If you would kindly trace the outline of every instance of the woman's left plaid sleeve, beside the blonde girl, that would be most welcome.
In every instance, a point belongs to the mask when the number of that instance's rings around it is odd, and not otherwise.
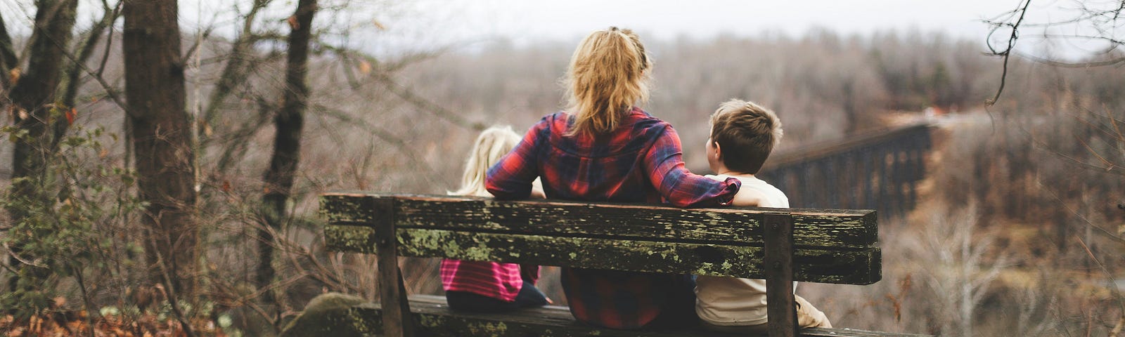
[[[485,189],[498,200],[528,199],[531,197],[531,184],[538,177],[539,162],[536,160],[536,148],[540,142],[540,133],[547,127],[547,120],[540,120],[528,130],[520,144],[515,145],[496,164],[488,168]]]

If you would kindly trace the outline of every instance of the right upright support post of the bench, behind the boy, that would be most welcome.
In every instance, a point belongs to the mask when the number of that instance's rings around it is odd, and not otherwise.
[[[793,217],[765,215],[766,315],[770,337],[796,336],[793,295]]]

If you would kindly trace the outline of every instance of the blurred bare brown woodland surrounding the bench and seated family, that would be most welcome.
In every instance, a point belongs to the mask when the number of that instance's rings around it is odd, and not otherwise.
[[[0,330],[65,317],[137,336],[263,336],[325,291],[374,299],[372,257],[324,251],[317,193],[454,190],[477,131],[522,130],[560,109],[577,43],[372,52],[364,44],[378,38],[353,36],[394,35],[411,9],[252,0],[186,26],[141,19],[176,1],[132,3],[0,4]],[[1120,27],[1110,4],[1084,18]],[[640,31],[656,64],[645,109],[676,127],[698,170],[706,118],[730,98],[777,111],[778,152],[936,122],[919,204],[880,219],[883,281],[799,293],[837,327],[1116,336],[1123,36],[1101,30],[1092,37],[1109,47],[1079,58],[1020,55],[1004,48],[1012,28],[1029,27],[1014,9],[982,13],[1001,15],[1005,38],[991,51],[984,36],[921,30]],[[158,85],[168,83],[179,84]],[[174,94],[165,108],[151,98]],[[435,261],[406,259],[404,272],[412,292],[441,292]],[[564,299],[552,277],[541,288]]]

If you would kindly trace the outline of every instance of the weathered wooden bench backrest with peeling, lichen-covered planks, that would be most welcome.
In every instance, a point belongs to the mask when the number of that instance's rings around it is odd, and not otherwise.
[[[792,224],[793,281],[881,279],[875,211],[709,208],[336,192],[321,197],[332,251],[765,279],[764,224]],[[788,222],[788,221],[786,221]],[[776,227],[776,226],[775,226]],[[380,229],[381,228],[381,229]],[[386,230],[386,231],[384,231]]]

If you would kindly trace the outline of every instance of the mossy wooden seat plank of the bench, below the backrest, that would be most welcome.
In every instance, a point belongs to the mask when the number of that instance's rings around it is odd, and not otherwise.
[[[663,329],[660,331],[627,331],[596,328],[578,324],[566,307],[548,306],[507,313],[476,313],[450,311],[441,297],[411,297],[415,327],[423,336],[496,336],[496,337],[732,337],[734,334],[712,333],[698,328]],[[376,304],[352,307],[353,325],[364,334],[379,335],[381,310]],[[855,329],[803,329],[798,336],[814,337],[924,337],[924,335],[889,334]]]

